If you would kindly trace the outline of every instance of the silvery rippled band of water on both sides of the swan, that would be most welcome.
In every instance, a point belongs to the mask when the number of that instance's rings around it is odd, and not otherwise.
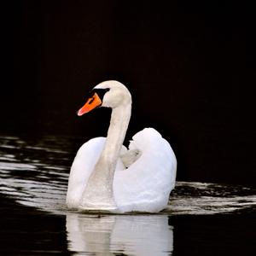
[[[69,167],[75,151],[70,153],[63,148],[71,144],[70,137],[0,137],[0,193],[29,207],[64,214]],[[228,213],[255,205],[256,195],[251,188],[177,182],[163,213]]]

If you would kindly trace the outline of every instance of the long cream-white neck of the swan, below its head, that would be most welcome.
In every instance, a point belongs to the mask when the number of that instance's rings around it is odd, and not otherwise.
[[[117,209],[113,198],[113,176],[130,118],[131,102],[113,108],[108,137],[82,196],[84,210]]]

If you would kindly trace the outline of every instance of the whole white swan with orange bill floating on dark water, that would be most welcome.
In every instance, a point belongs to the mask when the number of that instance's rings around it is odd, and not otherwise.
[[[67,207],[88,212],[160,212],[176,179],[177,160],[167,141],[153,128],[122,146],[131,117],[131,94],[118,81],[96,85],[78,115],[112,108],[108,136],[79,148],[68,179]]]

